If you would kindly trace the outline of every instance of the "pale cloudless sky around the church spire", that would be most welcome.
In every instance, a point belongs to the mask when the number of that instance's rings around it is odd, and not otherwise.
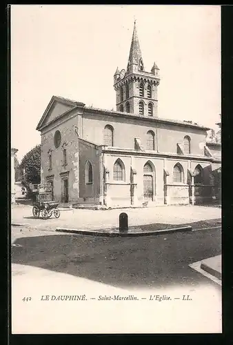
[[[220,6],[12,5],[11,146],[19,161],[53,95],[116,110],[113,75],[127,68],[134,20],[145,70],[160,68],[158,116],[217,129]]]

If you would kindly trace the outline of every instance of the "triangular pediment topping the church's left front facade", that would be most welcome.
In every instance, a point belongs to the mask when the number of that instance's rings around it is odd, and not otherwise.
[[[74,101],[53,96],[37,125],[37,130],[40,130],[43,126],[50,124],[54,119],[61,117],[61,115],[64,115],[76,107],[77,103]]]

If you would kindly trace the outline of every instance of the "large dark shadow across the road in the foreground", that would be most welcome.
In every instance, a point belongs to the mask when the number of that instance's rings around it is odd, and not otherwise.
[[[12,264],[122,288],[187,286],[213,284],[188,265],[219,254],[219,229],[124,238],[63,234],[17,239]]]

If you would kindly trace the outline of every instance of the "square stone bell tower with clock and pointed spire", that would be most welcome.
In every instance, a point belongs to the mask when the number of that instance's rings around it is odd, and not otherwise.
[[[117,111],[145,117],[157,117],[159,81],[159,68],[155,63],[151,72],[145,71],[136,32],[136,21],[134,21],[127,69],[120,71],[117,67],[114,74]]]

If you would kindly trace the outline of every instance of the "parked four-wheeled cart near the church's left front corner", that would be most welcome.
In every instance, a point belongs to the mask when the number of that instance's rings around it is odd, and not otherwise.
[[[51,184],[39,184],[37,188],[34,186],[34,201],[32,207],[32,214],[34,217],[47,219],[52,217],[59,218],[60,210],[57,208],[58,202],[53,200],[52,186]]]

